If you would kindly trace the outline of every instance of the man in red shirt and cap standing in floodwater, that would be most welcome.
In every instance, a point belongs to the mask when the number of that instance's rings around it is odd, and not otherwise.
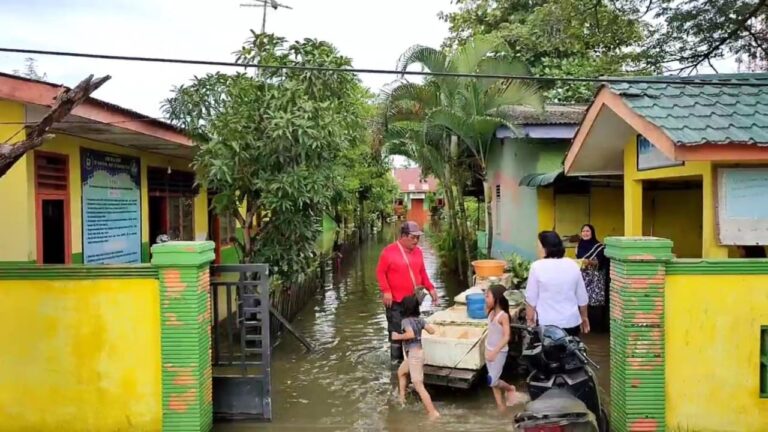
[[[387,314],[387,335],[392,360],[402,360],[400,342],[392,341],[392,332],[402,332],[403,308],[400,302],[415,295],[417,287],[424,287],[437,305],[437,291],[427,276],[424,255],[419,248],[419,239],[424,233],[416,222],[406,222],[400,228],[400,240],[381,251],[376,267],[376,279],[381,289],[381,300]]]

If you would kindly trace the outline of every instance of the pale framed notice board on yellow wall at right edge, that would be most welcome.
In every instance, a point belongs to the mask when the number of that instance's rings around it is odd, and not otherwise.
[[[723,245],[768,245],[768,167],[717,170],[717,231]]]

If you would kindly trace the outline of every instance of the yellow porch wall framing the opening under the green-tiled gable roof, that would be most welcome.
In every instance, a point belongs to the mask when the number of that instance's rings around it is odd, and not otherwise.
[[[693,221],[701,220],[701,233],[695,236],[701,238],[701,251],[699,256],[704,258],[728,258],[728,248],[720,246],[717,241],[716,217],[715,217],[715,171],[711,162],[686,162],[681,167],[659,168],[648,171],[637,170],[637,147],[635,136],[629,137],[624,146],[624,235],[639,236],[643,234],[643,187],[644,180],[661,179],[689,179],[701,180],[701,217],[695,217]],[[678,227],[688,227],[691,221],[687,214],[676,206],[668,210],[674,213],[670,216],[676,220]],[[698,225],[698,224],[696,224]],[[647,226],[647,225],[646,225]],[[692,245],[697,240],[690,229],[680,230],[675,243]],[[683,238],[690,235],[691,238]],[[687,247],[687,246],[686,246]],[[687,249],[686,249],[687,250]]]

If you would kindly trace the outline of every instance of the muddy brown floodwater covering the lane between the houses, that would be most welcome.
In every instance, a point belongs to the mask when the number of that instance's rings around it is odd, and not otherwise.
[[[217,432],[514,430],[513,413],[498,414],[491,390],[482,383],[471,390],[431,387],[442,415],[434,422],[426,419],[415,393],[405,407],[397,404],[375,273],[381,249],[393,238],[387,231],[347,254],[298,316],[294,325],[314,343],[316,352],[305,353],[291,336],[283,335],[272,361],[273,421],[217,424]],[[442,299],[440,307],[450,306],[464,287],[440,274],[428,242],[422,241],[421,247]],[[590,356],[605,365],[598,375],[600,387],[607,390],[608,337],[590,335],[585,342]],[[520,386],[523,377],[516,381]]]

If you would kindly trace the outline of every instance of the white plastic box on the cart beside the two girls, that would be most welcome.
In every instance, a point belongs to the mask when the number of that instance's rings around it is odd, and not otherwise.
[[[435,334],[423,332],[424,363],[430,366],[478,370],[485,365],[485,328],[433,324]]]

